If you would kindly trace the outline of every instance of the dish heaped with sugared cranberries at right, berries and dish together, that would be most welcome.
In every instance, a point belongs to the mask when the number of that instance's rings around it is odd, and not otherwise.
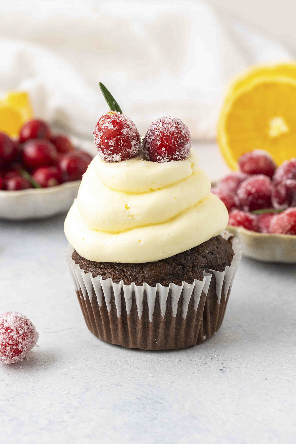
[[[227,230],[244,254],[268,262],[296,262],[296,158],[276,166],[261,150],[243,154],[239,171],[212,188],[227,207]]]

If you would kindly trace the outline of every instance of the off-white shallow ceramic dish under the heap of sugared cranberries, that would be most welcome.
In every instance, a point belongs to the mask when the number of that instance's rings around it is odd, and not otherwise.
[[[228,225],[249,258],[264,262],[296,263],[296,236],[292,234],[265,234]]]

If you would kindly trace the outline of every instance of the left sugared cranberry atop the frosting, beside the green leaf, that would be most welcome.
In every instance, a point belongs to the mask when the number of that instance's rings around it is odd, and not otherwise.
[[[134,122],[117,111],[102,115],[95,126],[94,142],[106,162],[121,162],[138,155],[141,137]]]

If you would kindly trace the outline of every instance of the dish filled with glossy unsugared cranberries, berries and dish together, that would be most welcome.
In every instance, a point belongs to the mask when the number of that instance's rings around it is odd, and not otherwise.
[[[38,219],[69,210],[92,157],[40,119],[25,123],[18,140],[0,132],[0,218]]]

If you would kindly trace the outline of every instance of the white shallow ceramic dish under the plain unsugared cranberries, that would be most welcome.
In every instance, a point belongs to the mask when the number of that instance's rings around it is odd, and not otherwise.
[[[95,156],[94,143],[68,135],[75,147]],[[77,196],[80,180],[64,182],[50,188],[0,190],[0,219],[43,219],[68,211]]]

